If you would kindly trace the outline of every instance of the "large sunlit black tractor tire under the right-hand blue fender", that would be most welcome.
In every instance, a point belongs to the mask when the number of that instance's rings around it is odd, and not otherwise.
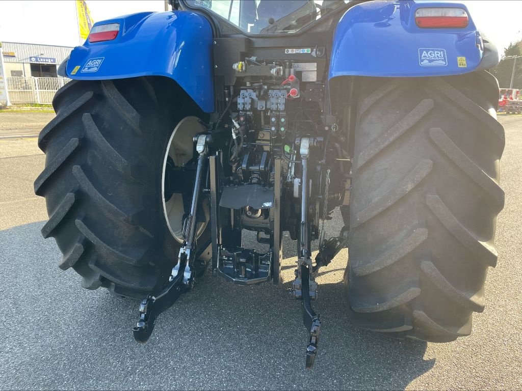
[[[485,71],[361,80],[345,273],[355,325],[432,342],[471,333],[504,206],[498,88]]]

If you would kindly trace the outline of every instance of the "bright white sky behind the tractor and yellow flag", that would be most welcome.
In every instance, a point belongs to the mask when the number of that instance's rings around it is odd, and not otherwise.
[[[522,40],[522,0],[465,0],[471,18],[503,53]],[[140,11],[163,11],[163,0],[87,0],[94,21]],[[0,0],[0,42],[77,46],[74,0]]]

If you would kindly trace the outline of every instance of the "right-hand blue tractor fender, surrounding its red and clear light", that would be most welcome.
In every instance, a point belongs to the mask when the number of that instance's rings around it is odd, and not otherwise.
[[[416,25],[415,11],[424,7],[464,8],[469,25],[462,29],[421,29]],[[464,4],[372,1],[353,6],[339,20],[328,79],[460,75],[498,61],[494,45],[484,48]]]

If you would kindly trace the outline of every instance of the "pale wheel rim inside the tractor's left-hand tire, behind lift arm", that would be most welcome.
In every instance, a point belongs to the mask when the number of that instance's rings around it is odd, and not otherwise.
[[[200,132],[205,131],[203,125],[199,123],[197,117],[185,117],[172,131],[169,143],[167,144],[167,151],[163,157],[163,169],[161,175],[161,199],[163,203],[163,215],[165,222],[169,227],[170,233],[177,242],[183,243],[183,196],[180,193],[174,193],[165,200],[165,180],[167,180],[167,167],[170,160],[176,167],[184,166],[193,157],[194,143],[193,137]],[[169,160],[170,157],[170,160]],[[192,194],[193,189],[187,189],[187,192]],[[205,214],[205,222],[198,223],[196,229],[196,238],[201,236],[207,227],[209,220],[209,205],[208,201],[201,205]]]

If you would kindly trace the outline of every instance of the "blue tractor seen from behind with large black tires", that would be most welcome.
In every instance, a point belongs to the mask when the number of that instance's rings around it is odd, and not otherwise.
[[[466,6],[170,4],[97,22],[59,69],[73,81],[40,133],[34,189],[60,267],[87,289],[141,299],[133,334],[145,342],[207,268],[279,284],[288,231],[307,368],[321,331],[315,278],[345,247],[355,325],[469,335],[497,260],[504,129],[487,71],[499,55]],[[337,207],[344,227],[327,238]]]

